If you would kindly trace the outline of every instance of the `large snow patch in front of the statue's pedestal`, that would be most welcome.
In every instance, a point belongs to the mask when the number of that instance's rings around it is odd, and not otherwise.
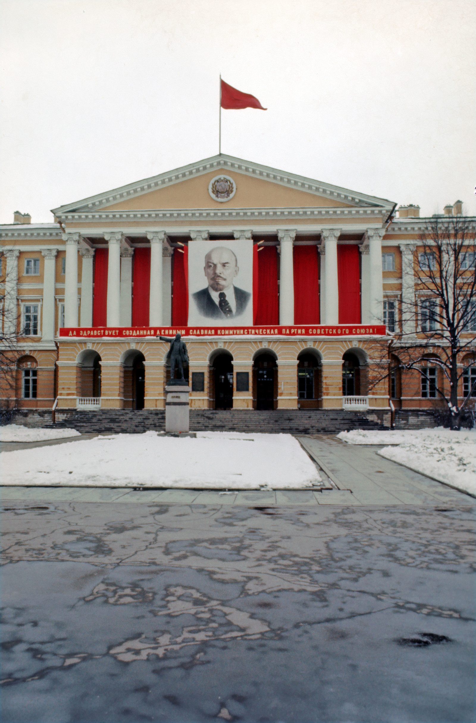
[[[300,489],[320,481],[292,435],[110,435],[0,454],[1,484]]]

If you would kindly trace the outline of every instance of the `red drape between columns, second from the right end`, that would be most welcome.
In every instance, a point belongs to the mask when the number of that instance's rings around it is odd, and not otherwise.
[[[317,246],[294,246],[294,324],[318,324],[319,252]]]

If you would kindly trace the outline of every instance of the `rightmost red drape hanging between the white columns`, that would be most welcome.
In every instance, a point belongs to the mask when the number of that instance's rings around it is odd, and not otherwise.
[[[360,324],[360,252],[357,244],[337,244],[339,324]]]

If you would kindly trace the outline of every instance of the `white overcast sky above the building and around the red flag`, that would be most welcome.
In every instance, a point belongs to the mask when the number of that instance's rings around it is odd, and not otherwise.
[[[221,150],[476,215],[474,0],[0,0],[0,223]]]

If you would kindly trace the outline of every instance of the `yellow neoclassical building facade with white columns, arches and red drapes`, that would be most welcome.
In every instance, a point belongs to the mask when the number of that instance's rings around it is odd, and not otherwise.
[[[415,294],[417,207],[396,217],[386,199],[221,154],[53,213],[0,226],[4,403],[161,409],[158,336],[175,333],[195,408],[433,403],[417,372],[379,371],[393,335],[415,325],[401,304]],[[252,323],[190,327],[192,244],[230,241],[252,248]]]

